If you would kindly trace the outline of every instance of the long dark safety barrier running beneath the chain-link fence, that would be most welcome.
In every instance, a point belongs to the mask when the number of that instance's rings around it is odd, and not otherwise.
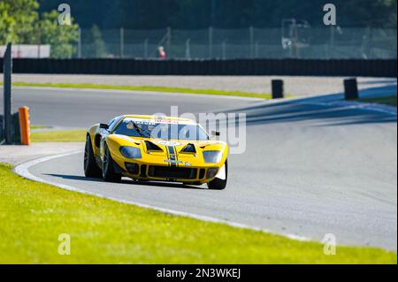
[[[14,73],[397,76],[396,59],[14,58],[12,64]]]

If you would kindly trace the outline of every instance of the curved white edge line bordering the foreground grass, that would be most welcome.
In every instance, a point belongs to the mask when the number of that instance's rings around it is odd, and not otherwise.
[[[107,199],[107,200],[111,200],[111,201],[115,201],[115,202],[133,204],[135,206],[138,206],[138,207],[141,207],[141,208],[144,208],[144,209],[157,210],[157,211],[165,212],[167,214],[171,214],[171,215],[174,215],[174,216],[191,217],[191,218],[195,218],[195,219],[202,220],[202,221],[218,223],[218,224],[224,224],[224,225],[229,225],[229,226],[233,226],[233,227],[237,227],[237,228],[246,228],[246,229],[251,229],[251,230],[255,230],[255,231],[259,231],[259,232],[272,233],[272,234],[284,236],[284,237],[287,237],[287,238],[293,239],[293,240],[302,240],[302,241],[303,240],[310,240],[310,238],[298,236],[298,235],[295,235],[295,234],[272,232],[271,230],[267,230],[267,229],[264,229],[264,228],[260,228],[260,227],[256,227],[256,226],[250,226],[250,225],[244,225],[244,224],[240,224],[240,223],[235,223],[235,222],[228,221],[228,220],[225,220],[225,219],[219,219],[219,218],[215,218],[215,217],[206,217],[206,216],[196,215],[196,214],[189,213],[189,212],[184,212],[184,211],[160,208],[160,207],[152,206],[152,205],[149,205],[149,204],[144,204],[144,203],[141,203],[141,202],[133,202],[133,201],[121,200],[121,199],[113,198],[113,197],[106,196],[106,195],[103,195],[103,194],[98,194],[98,193],[86,191],[86,190],[83,190],[83,189],[80,189],[80,188],[77,188],[77,187],[72,187],[72,186],[69,186],[69,185],[60,184],[60,183],[53,182],[53,181],[50,181],[50,180],[42,179],[42,178],[37,177],[34,174],[30,173],[30,171],[29,171],[29,168],[34,166],[35,164],[40,164],[40,163],[43,163],[43,162],[50,161],[51,159],[54,159],[54,158],[63,157],[63,156],[72,156],[72,155],[79,154],[79,153],[81,153],[81,151],[73,151],[71,153],[55,155],[55,156],[44,156],[44,157],[41,157],[41,158],[38,158],[38,159],[34,159],[32,161],[28,161],[27,163],[19,164],[19,165],[17,165],[14,168],[13,171],[15,171],[15,173],[17,173],[19,176],[21,176],[23,178],[31,179],[31,180],[34,180],[34,181],[37,181],[37,182],[42,182],[42,183],[49,184],[49,185],[52,185],[52,186],[55,186],[55,187],[59,187],[59,188],[65,189],[65,190],[69,190],[69,191],[73,191],[73,192],[79,192],[81,194],[94,195],[96,197]]]

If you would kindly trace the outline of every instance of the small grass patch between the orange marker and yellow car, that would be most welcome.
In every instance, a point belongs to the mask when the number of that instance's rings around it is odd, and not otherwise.
[[[86,130],[54,130],[30,133],[33,142],[72,142],[86,141]]]

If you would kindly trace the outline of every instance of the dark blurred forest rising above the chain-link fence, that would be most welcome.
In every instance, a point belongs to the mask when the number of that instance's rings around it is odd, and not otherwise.
[[[40,0],[42,11],[58,0]],[[280,27],[284,18],[306,19],[323,25],[325,0],[69,0],[80,27],[180,29]],[[342,27],[396,28],[397,0],[334,0]],[[91,11],[91,12],[87,12]]]

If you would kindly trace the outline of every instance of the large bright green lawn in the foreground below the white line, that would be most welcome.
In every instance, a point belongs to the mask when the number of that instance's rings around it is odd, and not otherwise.
[[[66,191],[6,164],[0,187],[0,263],[397,263],[396,253],[378,248],[324,255],[316,242]],[[61,233],[71,236],[71,255],[57,253]]]

